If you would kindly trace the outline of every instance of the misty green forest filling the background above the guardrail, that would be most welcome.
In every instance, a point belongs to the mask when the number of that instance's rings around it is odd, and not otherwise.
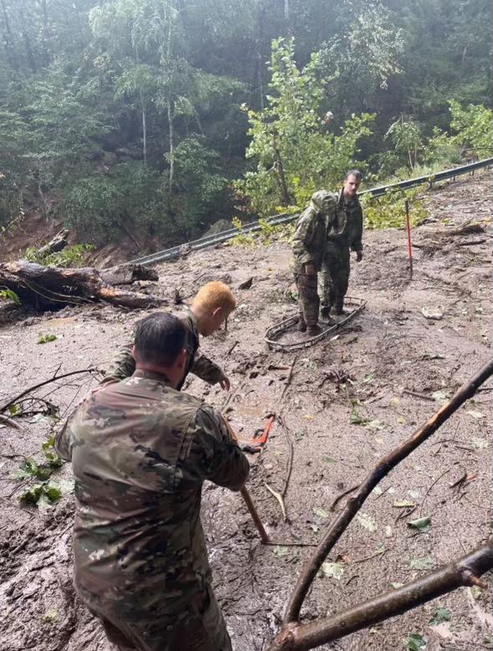
[[[0,0],[0,234],[152,247],[486,158],[488,0]]]

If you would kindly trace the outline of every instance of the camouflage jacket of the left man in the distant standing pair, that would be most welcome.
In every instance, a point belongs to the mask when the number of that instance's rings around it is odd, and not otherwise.
[[[322,212],[322,201],[326,198],[331,204],[328,215]],[[318,190],[312,195],[308,208],[298,217],[292,244],[295,274],[303,273],[303,267],[310,262],[315,271],[320,271],[336,201],[335,195]]]

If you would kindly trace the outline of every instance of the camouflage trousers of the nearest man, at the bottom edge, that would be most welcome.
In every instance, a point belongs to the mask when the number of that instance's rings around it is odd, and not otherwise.
[[[79,593],[80,594],[80,593]],[[83,594],[81,594],[83,596]],[[226,624],[212,588],[187,602],[178,613],[139,611],[126,599],[100,610],[89,607],[101,621],[107,639],[120,651],[232,651]]]

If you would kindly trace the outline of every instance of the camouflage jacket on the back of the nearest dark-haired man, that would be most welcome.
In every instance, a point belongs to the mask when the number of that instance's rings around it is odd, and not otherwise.
[[[204,479],[240,490],[249,465],[216,409],[156,373],[93,391],[55,449],[75,478],[75,582],[96,610],[176,613],[210,581]],[[156,612],[157,615],[157,612]]]

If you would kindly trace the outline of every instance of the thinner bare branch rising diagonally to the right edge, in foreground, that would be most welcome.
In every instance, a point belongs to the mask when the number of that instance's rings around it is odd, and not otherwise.
[[[477,387],[483,384],[483,382],[485,382],[485,380],[487,380],[492,374],[493,359],[481,368],[472,380],[463,384],[455,395],[453,395],[444,406],[436,411],[425,425],[416,430],[409,439],[403,441],[401,445],[380,459],[373,471],[371,471],[363,482],[361,482],[358,492],[348,498],[344,510],[337,519],[331,523],[324,538],[320,542],[320,545],[315,550],[313,557],[303,568],[302,575],[299,577],[298,583],[296,584],[294,592],[292,593],[287,605],[283,619],[284,625],[298,620],[303,600],[305,599],[318,570],[320,570],[322,563],[337,540],[339,540],[350,521],[352,521],[354,516],[356,516],[359,508],[361,508],[365,499],[371,493],[376,484],[378,484],[382,478],[386,477],[391,469],[405,459],[411,452],[413,452],[413,450],[416,450],[423,441],[426,441],[434,432],[436,432],[440,425],[442,425],[454,413],[454,411],[462,405],[463,402],[474,395]]]

